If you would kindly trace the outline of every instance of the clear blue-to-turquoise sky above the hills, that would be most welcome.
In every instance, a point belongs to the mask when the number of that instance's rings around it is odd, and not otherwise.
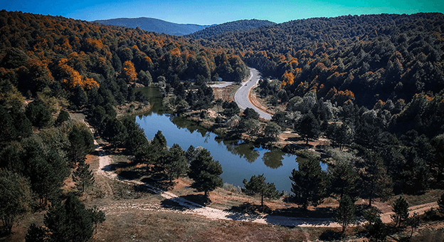
[[[149,17],[174,23],[213,24],[240,19],[282,23],[312,17],[444,13],[443,0],[1,0],[0,9],[87,21]]]

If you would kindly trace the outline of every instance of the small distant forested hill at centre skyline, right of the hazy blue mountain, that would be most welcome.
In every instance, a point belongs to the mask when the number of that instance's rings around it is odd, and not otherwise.
[[[202,30],[197,31],[195,33],[191,33],[186,37],[210,38],[212,36],[216,36],[218,34],[230,31],[246,31],[248,29],[260,28],[262,26],[270,26],[274,24],[276,23],[273,23],[268,20],[258,20],[258,19],[231,21],[228,23],[221,23],[216,26],[210,26],[208,28],[203,28]]]

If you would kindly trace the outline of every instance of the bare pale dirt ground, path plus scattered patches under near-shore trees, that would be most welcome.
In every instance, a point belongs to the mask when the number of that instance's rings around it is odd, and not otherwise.
[[[155,186],[151,186],[149,184],[146,184],[142,181],[137,180],[129,180],[124,179],[122,177],[117,176],[115,172],[112,171],[110,168],[112,165],[112,161],[110,157],[105,154],[105,152],[102,150],[102,147],[98,145],[97,141],[96,144],[96,151],[99,154],[99,166],[96,169],[97,176],[106,177],[107,179],[119,181],[124,184],[132,185],[132,186],[142,186],[144,189],[149,191],[152,194],[158,194],[162,197],[162,199],[166,199],[169,204],[171,204],[171,209],[168,208],[168,206],[162,207],[158,204],[137,204],[137,203],[126,203],[126,204],[120,204],[120,205],[114,205],[114,207],[110,207],[109,205],[102,206],[101,209],[106,211],[113,211],[116,212],[116,209],[142,209],[147,211],[164,211],[164,212],[174,212],[174,213],[180,213],[180,214],[191,214],[196,216],[201,216],[206,219],[216,219],[216,220],[233,220],[233,221],[249,221],[253,223],[268,223],[268,224],[276,224],[280,226],[307,226],[307,227],[328,227],[328,228],[339,228],[339,223],[335,223],[332,221],[332,219],[328,218],[296,218],[296,217],[290,217],[290,216],[281,216],[281,215],[269,215],[269,214],[259,214],[257,212],[253,212],[251,214],[245,213],[245,212],[237,212],[237,211],[230,211],[230,210],[222,210],[213,208],[211,206],[203,206],[201,204],[198,204],[194,201],[190,201],[184,198],[184,196],[178,196],[174,194],[173,191],[164,191],[162,189],[159,189]],[[179,189],[180,186],[182,188],[187,187],[187,182],[180,181],[176,184],[176,189]],[[109,186],[109,185],[108,185]],[[105,189],[105,194],[111,194],[112,189],[107,186],[103,186]],[[180,195],[180,194],[179,194]],[[231,194],[232,195],[232,194]],[[228,195],[229,196],[229,195]],[[213,195],[210,196],[211,201],[215,202],[216,204],[221,204],[220,200],[229,200],[229,199],[223,199],[221,198],[220,194],[219,196]],[[244,203],[247,203],[248,200],[244,200]],[[361,204],[366,203],[366,201],[362,200]],[[248,203],[249,204],[249,203]],[[270,204],[271,205],[271,204]],[[278,207],[282,208],[282,205],[285,206],[285,204],[277,205],[275,204],[273,209],[277,209]],[[381,219],[385,223],[391,222],[391,209],[386,206],[386,203],[375,203],[376,206],[378,206],[381,211],[383,211],[383,214],[381,216]],[[335,204],[322,204],[318,207],[334,207],[337,206],[337,203]],[[430,208],[436,208],[438,204],[436,202],[429,203],[429,204],[422,204],[418,206],[412,206],[411,207],[411,213],[413,211],[416,211],[418,214],[423,214],[426,210]],[[177,209],[179,207],[180,209]]]

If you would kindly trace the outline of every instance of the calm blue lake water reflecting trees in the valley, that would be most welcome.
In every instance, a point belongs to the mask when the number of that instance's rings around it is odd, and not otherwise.
[[[168,147],[176,143],[184,150],[191,144],[208,149],[213,159],[221,163],[223,182],[243,186],[243,179],[249,180],[253,175],[264,174],[265,181],[273,182],[280,191],[290,192],[289,177],[292,169],[297,169],[296,155],[285,154],[279,149],[253,147],[253,144],[241,140],[223,140],[194,122],[163,113],[162,97],[157,88],[143,88],[143,92],[149,95],[149,102],[154,103],[154,107],[149,114],[136,117],[136,122],[144,129],[149,140],[152,140],[157,130],[161,130]],[[326,168],[322,164],[322,169]]]

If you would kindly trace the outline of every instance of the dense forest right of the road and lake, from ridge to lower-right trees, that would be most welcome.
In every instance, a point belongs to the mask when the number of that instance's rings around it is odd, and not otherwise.
[[[360,169],[379,170],[380,182],[389,178],[384,186],[395,194],[442,184],[443,29],[443,14],[341,16],[224,33],[200,43],[231,49],[264,76],[276,77],[259,84],[260,96],[281,107],[272,121],[307,144],[324,135],[333,147],[348,147],[343,154],[326,150],[336,164],[331,187],[351,189],[332,194],[368,197],[375,194],[347,185]],[[367,186],[366,179],[358,180]]]

